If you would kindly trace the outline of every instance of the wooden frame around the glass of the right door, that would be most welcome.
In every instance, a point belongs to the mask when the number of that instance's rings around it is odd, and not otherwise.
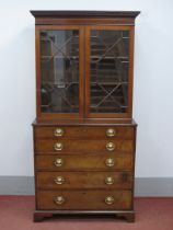
[[[126,113],[90,113],[90,35],[92,30],[129,31],[129,68],[128,68],[128,105]],[[132,114],[132,85],[134,85],[134,25],[89,25],[85,26],[85,118],[130,118]]]

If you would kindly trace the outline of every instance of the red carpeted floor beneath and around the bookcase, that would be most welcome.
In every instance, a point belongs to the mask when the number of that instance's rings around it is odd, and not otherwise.
[[[135,223],[102,216],[33,222],[33,196],[0,196],[0,230],[173,230],[173,197],[136,198],[135,209]]]

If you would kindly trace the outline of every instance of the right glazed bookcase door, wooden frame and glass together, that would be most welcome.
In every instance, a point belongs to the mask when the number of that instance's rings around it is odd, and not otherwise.
[[[88,26],[85,30],[85,116],[131,115],[132,26]]]

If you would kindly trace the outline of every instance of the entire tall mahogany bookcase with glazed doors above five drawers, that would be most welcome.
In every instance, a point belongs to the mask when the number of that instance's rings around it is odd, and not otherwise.
[[[36,42],[34,220],[112,214],[134,221],[132,67],[139,12],[31,13]]]

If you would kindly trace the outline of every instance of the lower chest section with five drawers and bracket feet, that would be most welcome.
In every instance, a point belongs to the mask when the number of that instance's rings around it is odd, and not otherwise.
[[[34,221],[53,215],[135,220],[136,127],[34,126]]]

